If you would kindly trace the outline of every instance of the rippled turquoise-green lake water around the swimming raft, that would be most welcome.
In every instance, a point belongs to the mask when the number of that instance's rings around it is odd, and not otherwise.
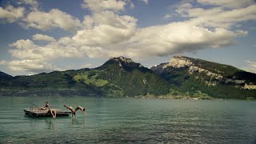
[[[0,97],[0,143],[255,143],[256,102]],[[30,118],[30,103],[86,108],[77,118]]]

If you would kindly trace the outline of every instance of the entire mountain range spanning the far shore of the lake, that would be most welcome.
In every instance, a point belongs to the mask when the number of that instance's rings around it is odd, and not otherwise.
[[[1,95],[256,99],[256,74],[180,55],[150,69],[118,57],[94,69],[16,77],[0,72]]]

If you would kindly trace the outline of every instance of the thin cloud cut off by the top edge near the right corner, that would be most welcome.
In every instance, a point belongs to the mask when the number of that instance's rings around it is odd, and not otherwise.
[[[209,1],[209,0],[198,0],[198,3],[205,4],[205,5],[213,5],[213,6],[223,6],[227,8],[242,8],[246,6],[250,6],[255,4],[254,0],[214,0],[214,1]]]

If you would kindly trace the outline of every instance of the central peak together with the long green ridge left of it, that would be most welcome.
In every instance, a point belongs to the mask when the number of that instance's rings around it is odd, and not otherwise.
[[[0,95],[136,96],[168,94],[165,79],[130,58],[110,58],[94,69],[16,76],[0,83]]]

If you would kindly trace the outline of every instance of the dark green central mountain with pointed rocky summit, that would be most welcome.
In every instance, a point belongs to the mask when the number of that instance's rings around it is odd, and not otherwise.
[[[121,88],[123,96],[169,93],[170,86],[165,79],[130,58],[110,58],[102,66],[91,71],[99,71],[98,78]]]

